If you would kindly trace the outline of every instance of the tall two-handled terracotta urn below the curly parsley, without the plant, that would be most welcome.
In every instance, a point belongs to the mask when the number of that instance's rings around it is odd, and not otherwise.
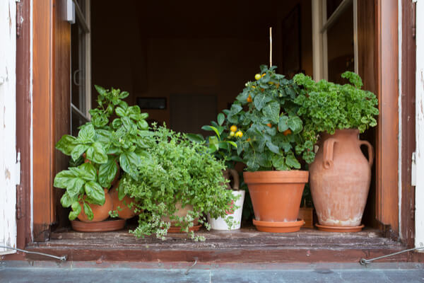
[[[324,229],[325,226],[359,227],[370,190],[372,146],[368,141],[359,140],[358,129],[322,134],[318,145],[310,165],[310,187],[321,224],[319,229],[323,226]],[[362,145],[368,147],[369,161],[360,150]]]

